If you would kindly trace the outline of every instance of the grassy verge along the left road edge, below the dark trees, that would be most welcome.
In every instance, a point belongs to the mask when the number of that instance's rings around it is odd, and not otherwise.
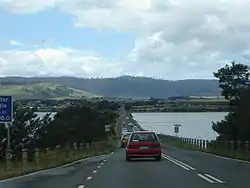
[[[46,154],[41,154],[39,161],[27,162],[26,165],[22,162],[12,162],[11,166],[6,169],[5,165],[0,164],[0,180],[29,174],[32,172],[46,170],[50,168],[60,167],[62,165],[78,161],[84,158],[108,154],[116,147],[117,142],[111,138],[105,141],[105,145],[99,145],[92,149],[80,149],[77,151],[54,149],[48,151]]]

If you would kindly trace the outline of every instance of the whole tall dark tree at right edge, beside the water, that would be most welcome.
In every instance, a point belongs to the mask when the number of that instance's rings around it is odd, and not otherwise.
[[[232,111],[224,120],[213,122],[219,140],[250,140],[250,87],[248,66],[236,62],[214,73],[222,95],[230,100]]]

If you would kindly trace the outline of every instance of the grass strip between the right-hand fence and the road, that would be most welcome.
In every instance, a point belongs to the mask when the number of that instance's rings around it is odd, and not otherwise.
[[[166,144],[169,146],[187,149],[187,150],[195,150],[195,151],[211,153],[211,154],[222,156],[222,157],[250,161],[250,151],[233,150],[233,149],[226,148],[225,146],[219,146],[219,145],[211,145],[207,149],[202,149],[199,147],[195,147],[192,144],[183,143],[181,140],[171,137],[171,136],[159,134],[159,138],[161,139],[161,142],[163,144]]]

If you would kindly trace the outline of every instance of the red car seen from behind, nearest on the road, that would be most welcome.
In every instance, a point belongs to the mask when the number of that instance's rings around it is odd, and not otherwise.
[[[161,160],[161,144],[157,134],[152,131],[133,132],[127,143],[126,160],[148,157]]]

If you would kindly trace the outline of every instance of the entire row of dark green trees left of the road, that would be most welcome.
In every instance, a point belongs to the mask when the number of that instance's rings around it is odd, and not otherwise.
[[[112,105],[111,105],[112,106]],[[54,118],[47,113],[39,117],[34,109],[14,107],[11,126],[11,149],[16,158],[21,157],[22,148],[48,148],[66,146],[73,142],[92,142],[105,139],[105,125],[114,124],[117,113],[93,104],[71,106],[59,111]],[[114,127],[113,127],[114,128]],[[111,130],[114,133],[114,130]],[[7,129],[0,124],[0,151],[4,157],[7,146]]]

